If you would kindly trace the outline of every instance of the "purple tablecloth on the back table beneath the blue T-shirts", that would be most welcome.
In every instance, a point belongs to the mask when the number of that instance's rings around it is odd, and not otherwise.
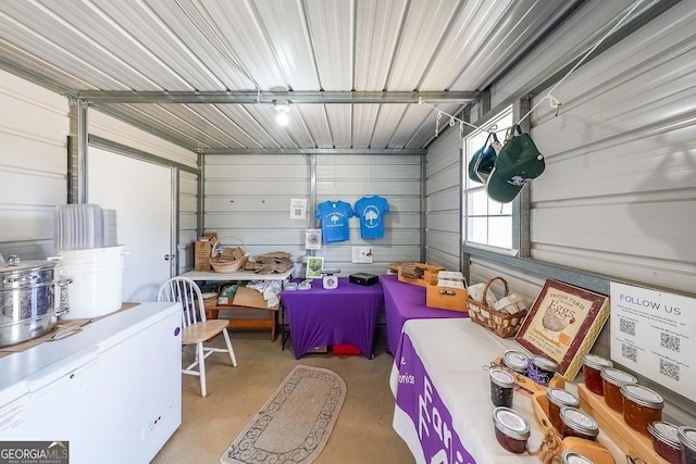
[[[295,358],[326,344],[352,344],[369,358],[374,353],[377,313],[384,302],[380,284],[369,287],[338,278],[338,288],[324,290],[321,279],[310,290],[283,291]]]

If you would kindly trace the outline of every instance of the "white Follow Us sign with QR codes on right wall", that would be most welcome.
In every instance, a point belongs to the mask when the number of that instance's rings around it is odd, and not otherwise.
[[[696,300],[611,283],[611,359],[696,396]]]

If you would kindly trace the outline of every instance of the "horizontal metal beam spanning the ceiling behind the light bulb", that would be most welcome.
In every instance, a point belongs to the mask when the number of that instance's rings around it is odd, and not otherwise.
[[[83,90],[80,99],[95,105],[113,103],[237,103],[272,104],[274,100],[289,100],[295,104],[381,104],[469,103],[480,98],[477,91],[129,91]]]

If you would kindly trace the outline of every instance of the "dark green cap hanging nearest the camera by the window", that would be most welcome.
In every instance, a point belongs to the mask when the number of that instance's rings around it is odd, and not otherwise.
[[[515,130],[522,131],[520,126]],[[520,190],[544,172],[546,164],[529,134],[520,134],[508,140],[496,158],[486,184],[488,197],[500,203],[514,200]]]

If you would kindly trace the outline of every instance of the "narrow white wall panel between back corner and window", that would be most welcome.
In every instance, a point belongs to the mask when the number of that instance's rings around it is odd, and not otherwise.
[[[461,148],[458,128],[431,145],[425,171],[425,258],[449,271],[461,271]]]

